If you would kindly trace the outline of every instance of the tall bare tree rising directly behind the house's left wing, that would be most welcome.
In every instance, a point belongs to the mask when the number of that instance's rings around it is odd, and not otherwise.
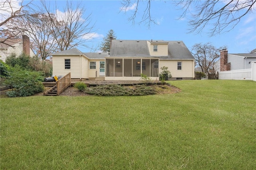
[[[43,0],[41,3],[50,18],[58,50],[63,51],[77,46],[88,47],[86,42],[93,36],[94,24],[90,19],[91,14],[85,15],[86,9],[81,3],[74,7],[72,1],[66,1],[64,12],[57,9],[52,12],[50,4]]]

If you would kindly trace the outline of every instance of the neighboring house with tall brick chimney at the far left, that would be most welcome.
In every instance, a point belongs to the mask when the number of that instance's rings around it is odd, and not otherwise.
[[[0,41],[3,41],[0,38]],[[34,52],[30,47],[30,40],[28,36],[22,36],[22,39],[7,39],[4,43],[0,43],[0,59],[6,60],[6,57],[15,53],[17,56],[24,52],[30,57],[34,56]]]

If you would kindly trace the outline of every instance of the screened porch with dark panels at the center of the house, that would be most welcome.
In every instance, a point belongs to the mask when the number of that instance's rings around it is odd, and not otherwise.
[[[159,58],[105,58],[105,80],[140,80],[141,74],[159,80]]]

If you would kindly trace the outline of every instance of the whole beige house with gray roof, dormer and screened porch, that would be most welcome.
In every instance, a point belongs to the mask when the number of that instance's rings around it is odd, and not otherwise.
[[[161,67],[170,79],[194,79],[194,57],[182,41],[112,40],[110,53],[82,53],[78,49],[52,55],[53,75],[72,79],[140,80],[143,73],[159,80]]]

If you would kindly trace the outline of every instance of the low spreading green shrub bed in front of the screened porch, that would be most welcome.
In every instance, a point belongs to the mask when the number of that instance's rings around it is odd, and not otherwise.
[[[147,85],[98,85],[84,90],[84,92],[98,96],[136,96],[156,94],[154,88]]]

